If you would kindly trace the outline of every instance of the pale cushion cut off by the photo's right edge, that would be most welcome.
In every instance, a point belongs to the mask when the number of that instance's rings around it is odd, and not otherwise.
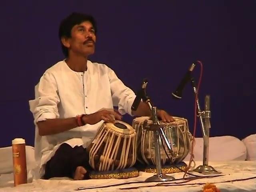
[[[256,160],[256,134],[247,136],[242,140],[247,149],[246,160]]]

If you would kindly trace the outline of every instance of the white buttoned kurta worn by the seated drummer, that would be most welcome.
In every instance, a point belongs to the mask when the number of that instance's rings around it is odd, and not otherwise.
[[[136,97],[114,71],[105,64],[87,62],[86,72],[75,72],[65,60],[46,70],[35,88],[35,99],[30,100],[30,111],[34,122],[71,118],[79,114],[91,114],[102,108],[118,106],[120,114],[132,115],[131,106]],[[103,121],[73,128],[48,136],[35,131],[35,159],[38,164],[36,178],[44,175],[44,166],[54,155],[60,144],[87,147],[96,135]]]

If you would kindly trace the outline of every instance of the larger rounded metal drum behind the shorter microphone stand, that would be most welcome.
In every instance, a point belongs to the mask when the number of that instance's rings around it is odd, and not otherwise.
[[[166,156],[162,142],[160,140],[160,156],[162,165],[181,162],[189,153],[192,134],[188,129],[188,121],[185,118],[173,117],[175,122],[160,122],[163,126],[166,138],[172,146],[172,152],[164,143],[164,148],[171,160]],[[146,120],[146,121],[145,121]],[[155,165],[156,156],[154,150],[154,131],[147,127],[152,124],[149,117],[138,117],[132,122],[132,127],[137,133],[137,160],[143,165]]]

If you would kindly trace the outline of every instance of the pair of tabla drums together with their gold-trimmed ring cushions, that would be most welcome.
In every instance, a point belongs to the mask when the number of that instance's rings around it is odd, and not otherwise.
[[[172,153],[166,148],[168,156],[160,143],[162,168],[165,173],[179,172],[186,164],[182,160],[190,150],[192,135],[188,130],[188,121],[174,117],[175,122],[163,123],[163,130],[172,146]],[[146,121],[145,121],[146,120]],[[146,122],[146,124],[145,124]],[[133,120],[132,126],[122,121],[104,123],[94,138],[89,150],[89,164],[95,170],[90,178],[130,178],[138,176],[138,170],[132,168],[136,163],[146,172],[156,172],[153,131],[146,127],[152,124],[149,117]],[[172,163],[176,166],[170,166]],[[137,164],[135,165],[136,167]],[[141,166],[140,166],[141,168]]]

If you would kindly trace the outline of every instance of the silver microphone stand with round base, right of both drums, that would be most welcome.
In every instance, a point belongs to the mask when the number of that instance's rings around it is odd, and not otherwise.
[[[194,78],[191,78],[191,84],[194,90],[194,94],[197,94],[196,86],[194,83]],[[205,108],[204,111],[201,111],[200,104],[198,98],[196,99],[197,104],[197,115],[200,120],[200,125],[202,128],[203,140],[204,140],[204,149],[203,149],[203,165],[198,166],[194,169],[194,172],[198,172],[204,175],[209,174],[220,174],[220,172],[216,171],[212,166],[208,165],[209,158],[209,132],[210,132],[210,95],[205,96]],[[204,121],[203,121],[204,119]]]

